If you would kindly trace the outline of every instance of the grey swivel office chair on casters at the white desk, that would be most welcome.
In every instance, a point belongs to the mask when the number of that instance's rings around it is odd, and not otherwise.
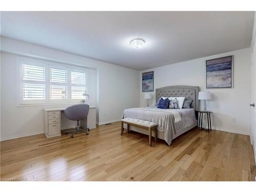
[[[64,111],[66,117],[70,120],[77,121],[76,130],[65,131],[66,135],[68,135],[68,133],[70,132],[72,132],[71,138],[73,138],[74,135],[78,132],[83,132],[86,133],[86,135],[89,135],[89,128],[82,129],[82,127],[79,126],[79,121],[87,120],[89,108],[90,106],[88,104],[75,104],[66,108],[66,110]]]

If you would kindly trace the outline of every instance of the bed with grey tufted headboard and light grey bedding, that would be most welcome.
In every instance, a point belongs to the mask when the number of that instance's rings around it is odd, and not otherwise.
[[[194,86],[168,86],[156,89],[156,102],[161,97],[185,97],[193,100],[190,109],[158,109],[157,106],[130,108],[124,110],[123,118],[157,123],[157,137],[170,145],[173,139],[197,126],[195,111],[199,109],[198,91],[199,87]],[[130,126],[130,130],[148,135],[146,130],[135,126]]]

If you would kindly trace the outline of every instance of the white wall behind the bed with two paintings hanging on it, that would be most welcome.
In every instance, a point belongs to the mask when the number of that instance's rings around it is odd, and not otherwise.
[[[250,135],[250,48],[144,70],[141,73],[154,71],[154,89],[185,85],[199,86],[200,91],[203,91],[205,90],[205,61],[228,55],[233,55],[233,88],[208,90],[213,98],[208,102],[208,110],[214,112],[212,125],[214,129]],[[143,106],[145,100],[141,84],[140,78],[140,105]],[[152,101],[155,104],[155,95]],[[200,106],[203,109],[203,103],[200,103]],[[232,119],[236,119],[237,122],[232,122]]]

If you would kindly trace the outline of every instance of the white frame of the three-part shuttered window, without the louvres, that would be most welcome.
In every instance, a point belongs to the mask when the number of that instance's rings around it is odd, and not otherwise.
[[[23,80],[23,64],[45,67],[45,81],[33,81],[33,83],[37,84],[45,84],[45,99],[23,99],[23,83],[31,80]],[[67,70],[67,99],[51,99],[50,98],[50,86],[51,85],[62,85],[65,83],[61,82],[50,82],[50,69],[60,69]],[[84,88],[88,90],[88,68],[77,67],[73,65],[64,65],[62,63],[34,59],[34,58],[17,58],[17,74],[16,74],[16,105],[17,106],[36,106],[36,105],[56,105],[56,104],[70,104],[70,103],[81,103],[82,99],[72,99],[71,98],[71,71],[85,73],[85,85]]]

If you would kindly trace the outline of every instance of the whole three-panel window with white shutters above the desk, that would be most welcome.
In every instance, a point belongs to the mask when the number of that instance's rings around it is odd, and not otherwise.
[[[69,103],[84,99],[85,68],[37,59],[20,59],[17,65],[20,74],[20,99],[17,104]]]

